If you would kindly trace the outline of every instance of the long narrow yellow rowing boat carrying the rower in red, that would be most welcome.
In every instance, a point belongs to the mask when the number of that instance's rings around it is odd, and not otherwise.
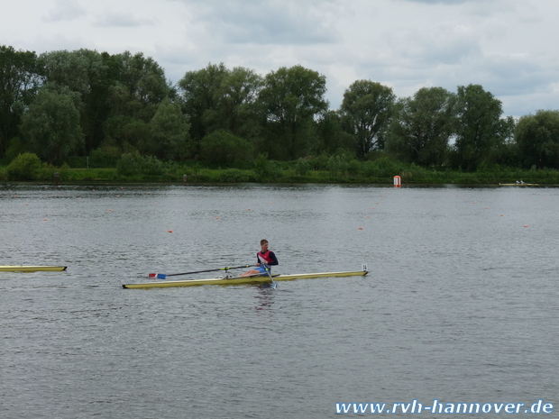
[[[368,270],[350,270],[344,272],[321,272],[315,274],[272,275],[274,281],[289,281],[291,279],[325,278],[325,277],[364,277]],[[259,284],[270,282],[270,277],[250,276],[233,278],[185,279],[181,281],[144,282],[139,284],[124,284],[123,288],[163,288],[163,287],[192,287],[199,285],[239,285]]]

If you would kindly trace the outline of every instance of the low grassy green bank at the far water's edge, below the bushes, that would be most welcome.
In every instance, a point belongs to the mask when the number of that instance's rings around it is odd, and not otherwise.
[[[300,167],[300,162],[270,162],[268,167],[254,169],[209,169],[199,165],[169,165],[157,171],[123,173],[118,169],[71,169],[68,166],[55,168],[45,166],[37,169],[32,177],[14,178],[7,169],[0,167],[0,180],[33,180],[55,182],[58,174],[60,183],[91,181],[109,182],[161,182],[182,184],[218,184],[242,182],[277,183],[361,183],[392,184],[394,176],[401,177],[403,185],[484,185],[514,183],[522,179],[526,183],[559,185],[559,171],[522,170],[502,167],[481,168],[476,172],[451,169],[426,169],[398,162],[360,162],[345,168],[312,169]],[[376,164],[375,164],[376,163]]]

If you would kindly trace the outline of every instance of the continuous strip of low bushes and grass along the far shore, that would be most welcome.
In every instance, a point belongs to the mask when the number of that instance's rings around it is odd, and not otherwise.
[[[392,184],[399,176],[403,185],[498,185],[523,181],[525,184],[559,185],[559,170],[517,169],[482,164],[476,171],[424,168],[383,157],[358,161],[344,156],[319,156],[294,161],[269,160],[265,155],[235,168],[216,168],[201,162],[164,162],[154,157],[124,154],[113,168],[71,168],[52,166],[32,153],[25,153],[0,166],[0,181],[86,183],[106,181],[188,183],[340,183]]]

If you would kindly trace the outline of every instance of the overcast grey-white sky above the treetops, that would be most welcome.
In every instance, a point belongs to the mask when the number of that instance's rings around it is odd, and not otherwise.
[[[0,44],[155,59],[176,83],[223,62],[300,64],[332,109],[353,81],[399,97],[479,84],[505,115],[559,109],[559,0],[0,0]]]

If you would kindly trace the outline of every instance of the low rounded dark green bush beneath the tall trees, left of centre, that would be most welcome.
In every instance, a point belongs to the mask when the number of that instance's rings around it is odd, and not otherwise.
[[[252,145],[231,132],[217,130],[204,137],[200,155],[206,161],[229,165],[251,157]]]

